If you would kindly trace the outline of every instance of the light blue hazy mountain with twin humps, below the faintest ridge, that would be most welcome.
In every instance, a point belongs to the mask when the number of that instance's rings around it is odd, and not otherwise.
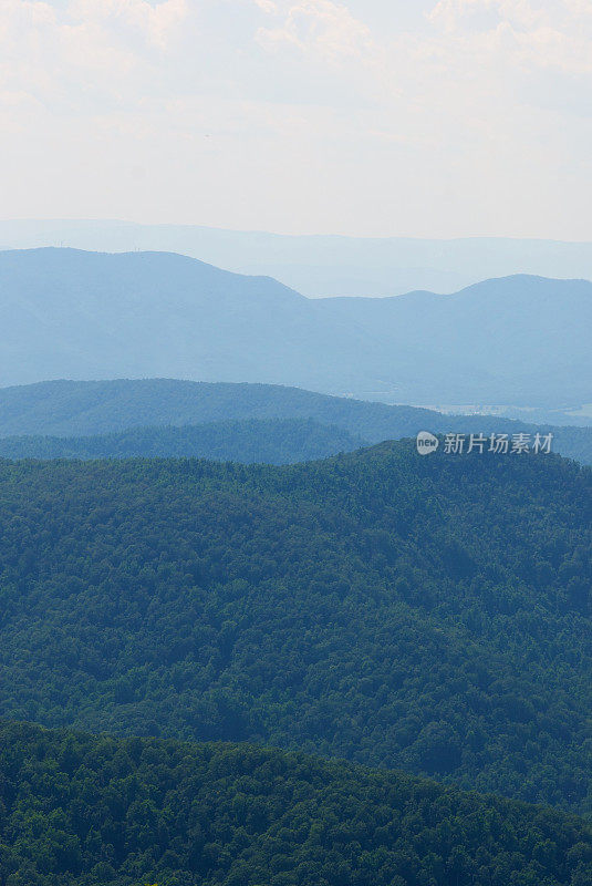
[[[0,254],[0,384],[165,377],[414,403],[592,402],[592,284],[310,300],[183,256]]]

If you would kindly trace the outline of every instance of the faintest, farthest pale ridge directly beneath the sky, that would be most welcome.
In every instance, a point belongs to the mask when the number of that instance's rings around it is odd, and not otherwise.
[[[116,220],[0,222],[0,249],[69,246],[103,253],[162,250],[237,274],[266,275],[312,298],[454,292],[488,277],[592,279],[592,243],[466,237],[288,236],[196,225]]]

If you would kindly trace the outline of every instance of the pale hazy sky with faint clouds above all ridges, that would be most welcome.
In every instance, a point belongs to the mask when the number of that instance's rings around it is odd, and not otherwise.
[[[0,0],[0,217],[592,240],[592,0]]]

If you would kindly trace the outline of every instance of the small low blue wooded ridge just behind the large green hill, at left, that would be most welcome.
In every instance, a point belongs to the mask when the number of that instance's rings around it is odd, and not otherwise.
[[[245,419],[184,427],[134,427],[100,436],[0,437],[6,459],[216,459],[291,464],[352,452],[365,441],[313,419]]]

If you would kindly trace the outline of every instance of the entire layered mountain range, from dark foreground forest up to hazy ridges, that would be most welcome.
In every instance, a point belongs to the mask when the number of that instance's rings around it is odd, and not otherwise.
[[[353,288],[423,248],[277,246]],[[585,280],[0,253],[0,886],[590,886],[591,320]]]

